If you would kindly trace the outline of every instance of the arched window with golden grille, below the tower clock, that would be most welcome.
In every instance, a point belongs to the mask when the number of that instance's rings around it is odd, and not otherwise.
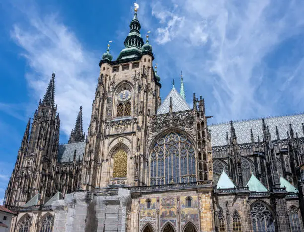
[[[120,149],[113,158],[113,178],[125,178],[127,177],[127,153]]]

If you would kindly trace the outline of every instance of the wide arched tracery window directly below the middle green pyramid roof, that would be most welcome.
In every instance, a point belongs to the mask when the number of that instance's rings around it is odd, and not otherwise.
[[[275,232],[272,213],[261,202],[256,202],[251,208],[254,232]]]

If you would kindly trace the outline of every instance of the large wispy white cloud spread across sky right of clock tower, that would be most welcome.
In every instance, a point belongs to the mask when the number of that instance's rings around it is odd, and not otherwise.
[[[186,85],[207,99],[216,121],[282,114],[282,98],[289,110],[303,110],[304,51],[293,64],[275,67],[293,68],[285,79],[267,59],[287,39],[304,38],[303,1],[159,0],[151,12],[162,58],[172,63],[164,73],[181,67]]]

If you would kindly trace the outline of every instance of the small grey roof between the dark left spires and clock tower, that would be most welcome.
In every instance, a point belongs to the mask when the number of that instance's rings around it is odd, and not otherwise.
[[[76,150],[76,159],[82,160],[85,151],[85,142],[68,143],[59,145],[58,149],[58,162],[69,162],[69,158],[73,161],[74,152]]]

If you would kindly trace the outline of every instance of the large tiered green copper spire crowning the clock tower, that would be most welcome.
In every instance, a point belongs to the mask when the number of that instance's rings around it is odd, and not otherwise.
[[[139,32],[141,24],[137,18],[137,9],[134,11],[134,17],[130,23],[130,32],[124,42],[125,48],[119,53],[117,60],[141,56],[144,41]]]

